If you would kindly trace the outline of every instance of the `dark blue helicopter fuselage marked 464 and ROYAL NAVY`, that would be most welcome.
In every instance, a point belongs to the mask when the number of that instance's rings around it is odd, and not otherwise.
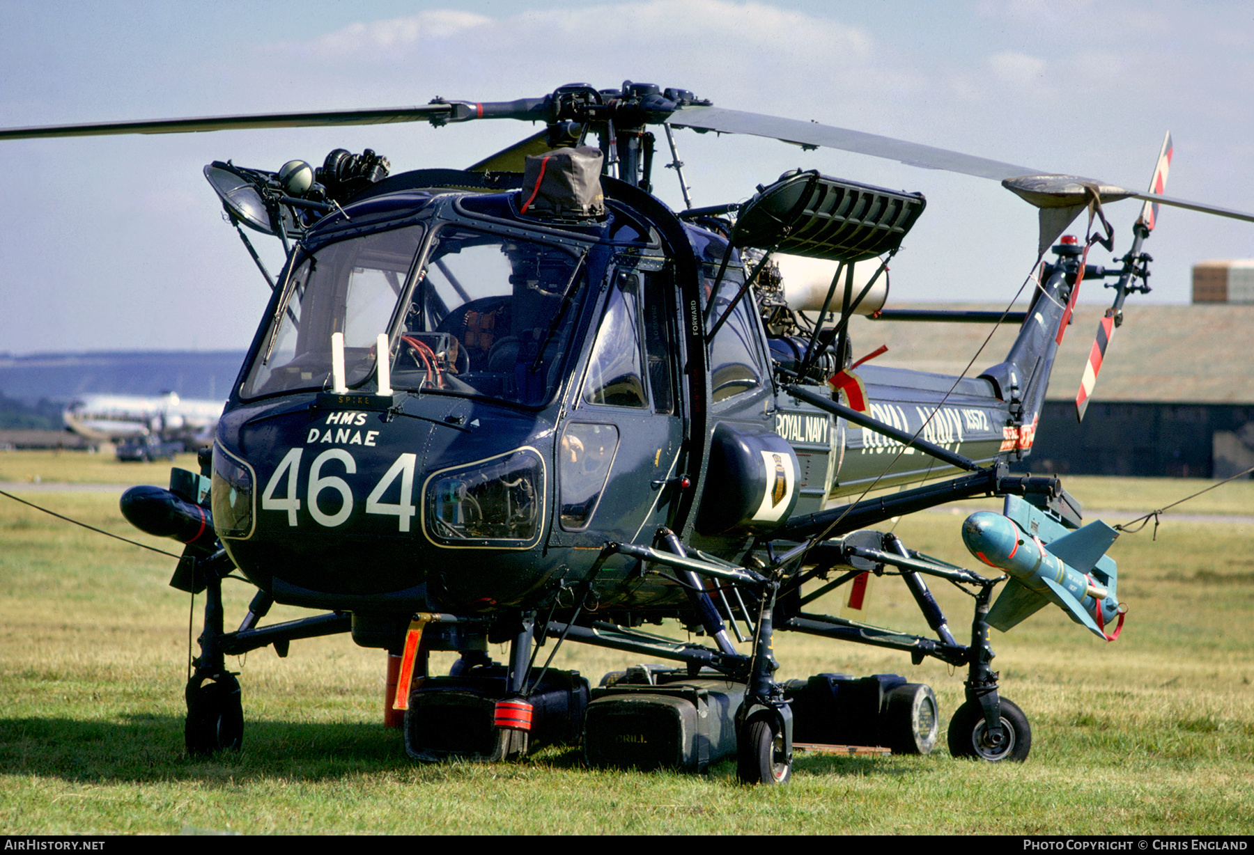
[[[315,608],[535,608],[607,542],[665,525],[735,560],[794,511],[953,471],[779,390],[751,301],[707,349],[726,241],[607,196],[599,219],[543,221],[515,192],[380,192],[306,233],[214,446],[214,524],[252,582]],[[863,375],[885,424],[977,461],[1023,450],[997,376]],[[750,471],[772,459],[793,474]],[[682,606],[638,570],[609,559],[597,606]]]

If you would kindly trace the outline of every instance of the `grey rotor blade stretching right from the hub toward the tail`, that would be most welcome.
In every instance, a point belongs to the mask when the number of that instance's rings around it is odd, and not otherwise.
[[[989,160],[988,158],[962,154],[961,152],[951,152],[932,145],[908,143],[903,139],[893,139],[892,137],[879,137],[860,130],[835,128],[816,122],[781,119],[760,113],[727,110],[721,107],[685,107],[672,113],[666,123],[676,128],[717,130],[727,134],[751,134],[754,137],[769,137],[798,145],[838,148],[844,152],[900,160],[912,167],[946,169],[964,176],[976,176],[977,178],[992,178],[993,181],[1048,172],[1013,163],[1002,163],[1001,160]]]

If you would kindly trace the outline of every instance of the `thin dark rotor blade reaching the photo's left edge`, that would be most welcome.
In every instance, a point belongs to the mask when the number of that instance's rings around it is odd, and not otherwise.
[[[311,113],[211,115],[193,119],[93,122],[88,124],[0,129],[0,140],[43,139],[49,137],[103,137],[109,134],[181,134],[253,128],[316,128],[342,124],[390,124],[393,122],[443,119],[450,117],[455,109],[455,104],[424,104],[421,107],[391,107],[366,110],[317,110]]]

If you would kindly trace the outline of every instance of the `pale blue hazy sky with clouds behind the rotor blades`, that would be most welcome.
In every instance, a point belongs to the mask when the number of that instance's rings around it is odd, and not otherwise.
[[[26,3],[0,8],[0,127],[538,98],[572,81],[690,89],[816,120],[1254,211],[1254,5],[1154,0],[740,3]],[[202,168],[277,169],[334,148],[394,172],[463,167],[533,132],[395,124],[0,143],[0,354],[243,349],[268,288]],[[996,182],[774,140],[677,132],[693,204],[795,167],[919,191],[889,305],[1008,301],[1036,209]],[[671,170],[655,183],[681,208]],[[1140,203],[1107,209],[1119,253]],[[275,238],[253,236],[276,271]],[[1254,256],[1254,224],[1162,208],[1149,296]],[[1095,249],[1091,262],[1110,265]],[[1097,283],[1081,301],[1110,301]]]

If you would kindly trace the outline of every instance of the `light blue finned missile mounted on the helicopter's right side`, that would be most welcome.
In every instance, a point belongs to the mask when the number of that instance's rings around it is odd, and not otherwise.
[[[1126,608],[1115,594],[1115,562],[1106,557],[1117,537],[1099,520],[1042,543],[1009,517],[989,510],[968,517],[962,524],[967,549],[1011,575],[988,612],[988,624],[1006,632],[1048,602],[1100,638],[1119,638]],[[1116,619],[1114,634],[1107,634],[1106,626]]]

